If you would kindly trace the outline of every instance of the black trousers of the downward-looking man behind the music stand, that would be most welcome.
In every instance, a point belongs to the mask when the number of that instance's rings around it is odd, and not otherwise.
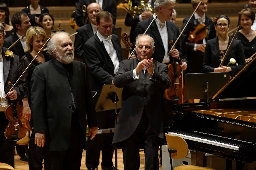
[[[97,112],[98,127],[106,129],[115,127],[115,116],[112,116],[113,110]],[[85,156],[85,165],[87,168],[96,168],[100,164],[100,150],[102,150],[101,167],[113,166],[113,153],[115,148],[112,146],[113,133],[96,134],[91,140],[87,139],[87,149]]]

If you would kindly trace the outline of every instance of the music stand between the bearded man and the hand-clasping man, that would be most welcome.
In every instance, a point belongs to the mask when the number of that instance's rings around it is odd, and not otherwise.
[[[114,84],[105,84],[102,86],[100,96],[96,104],[96,112],[115,110],[115,129],[117,124],[117,109],[121,108],[121,95],[123,88],[117,88]],[[114,103],[114,104],[113,104]],[[112,129],[101,129],[101,133],[113,132]],[[117,170],[117,149],[115,148],[115,168]]]

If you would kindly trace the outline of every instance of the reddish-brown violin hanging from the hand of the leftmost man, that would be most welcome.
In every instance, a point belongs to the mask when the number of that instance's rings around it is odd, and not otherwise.
[[[10,90],[12,83],[8,82]],[[22,107],[15,104],[16,100],[11,100],[11,105],[5,108],[5,117],[9,120],[8,126],[5,129],[5,137],[10,141],[18,141],[27,134],[25,124],[22,123]]]

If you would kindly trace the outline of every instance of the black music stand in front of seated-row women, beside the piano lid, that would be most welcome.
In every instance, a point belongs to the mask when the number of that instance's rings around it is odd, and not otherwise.
[[[186,99],[207,99],[208,102],[228,81],[228,72],[186,74]]]

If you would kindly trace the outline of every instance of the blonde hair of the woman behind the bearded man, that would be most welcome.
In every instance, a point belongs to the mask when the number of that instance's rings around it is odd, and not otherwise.
[[[27,52],[31,52],[33,50],[33,40],[37,35],[42,35],[46,38],[46,33],[43,28],[41,28],[40,26],[30,26],[26,33],[27,48],[25,50]]]

